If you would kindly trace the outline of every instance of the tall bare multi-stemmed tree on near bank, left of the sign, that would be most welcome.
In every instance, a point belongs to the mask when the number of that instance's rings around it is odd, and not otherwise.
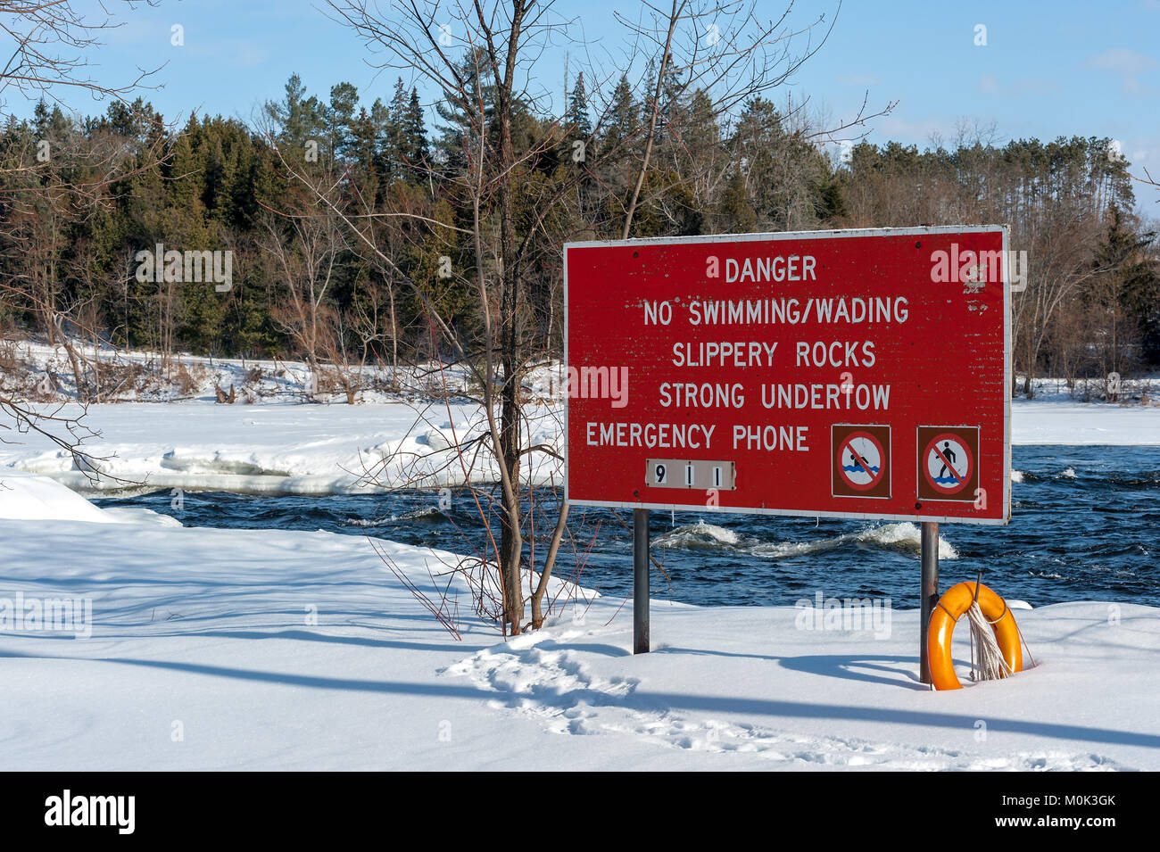
[[[557,230],[560,205],[578,187],[592,182],[602,165],[623,159],[626,151],[638,152],[631,194],[626,199],[609,198],[610,205],[622,205],[619,235],[628,236],[646,191],[657,140],[668,128],[666,108],[672,99],[704,90],[716,118],[778,86],[817,50],[817,44],[797,50],[791,46],[793,41],[824,19],[795,30],[784,15],[762,22],[754,2],[674,0],[664,9],[645,3],[639,20],[621,19],[631,42],[625,54],[618,59],[589,56],[582,70],[586,79],[606,83],[615,79],[608,68],[635,75],[638,82],[633,89],[645,99],[646,121],[615,145],[597,146],[596,136],[611,114],[611,99],[599,99],[596,130],[588,139],[578,140],[583,155],[574,160],[577,166],[552,180],[539,180],[537,167],[559,151],[572,128],[528,116],[551,112],[551,93],[541,81],[554,74],[542,68],[553,43],[572,39],[577,21],[558,15],[552,2],[530,0],[461,0],[450,5],[400,0],[391,14],[367,0],[329,0],[328,5],[364,41],[372,66],[425,78],[443,94],[458,122],[458,145],[451,152],[455,162],[445,168],[429,166],[427,174],[433,190],[437,187],[454,194],[470,211],[462,226],[466,233],[459,233],[466,238],[470,262],[452,270],[450,279],[474,293],[478,326],[469,336],[437,311],[430,321],[480,387],[488,451],[498,461],[501,504],[500,541],[487,559],[494,559],[501,577],[506,629],[517,634],[524,629],[525,603],[521,577],[527,555],[524,461],[532,453],[558,458],[554,450],[534,445],[527,437],[530,430],[522,388],[535,351],[528,330],[529,285],[545,245],[558,252],[563,240],[572,235]],[[588,45],[580,46],[588,51]],[[433,306],[429,283],[414,281],[398,267],[376,243],[367,219],[342,213],[305,169],[297,169],[295,176],[314,187],[320,203],[343,216],[365,252],[425,306]],[[461,228],[428,224],[433,232],[449,235]],[[538,583],[530,590],[534,627],[544,618],[542,602],[565,524],[566,509],[558,518]],[[532,559],[527,561],[530,566]]]

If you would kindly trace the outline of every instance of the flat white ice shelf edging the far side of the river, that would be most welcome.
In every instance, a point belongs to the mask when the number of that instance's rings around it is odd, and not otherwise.
[[[529,406],[525,440],[559,453],[563,409]],[[1160,407],[1015,402],[1015,444],[1160,445]],[[365,406],[255,405],[212,402],[92,406],[87,420],[102,432],[89,451],[101,469],[144,483],[138,490],[184,488],[245,494],[335,494],[391,487],[494,481],[486,453],[466,469],[448,446],[478,437],[485,421],[470,405],[403,403]],[[72,458],[39,436],[0,444],[0,480],[6,468],[51,476],[82,493],[92,478]],[[525,459],[525,474],[559,481],[558,460],[543,452]],[[106,479],[102,489],[135,487]]]

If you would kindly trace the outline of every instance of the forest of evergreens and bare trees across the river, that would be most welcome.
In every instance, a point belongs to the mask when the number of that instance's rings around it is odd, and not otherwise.
[[[1110,139],[862,141],[839,156],[799,112],[752,97],[727,116],[693,90],[665,102],[644,158],[646,103],[628,79],[595,125],[588,100],[579,75],[563,116],[514,104],[513,187],[527,202],[514,227],[530,248],[513,310],[532,351],[561,351],[561,245],[621,236],[644,161],[635,238],[1007,223],[1028,262],[1013,300],[1017,372],[1160,365],[1155,234],[1133,213],[1130,163]],[[142,100],[84,119],[41,102],[0,133],[0,326],[162,357],[452,355],[434,342],[432,312],[470,336],[481,322],[474,267],[488,257],[473,245],[479,195],[467,185],[478,122],[455,103],[436,103],[428,122],[401,80],[367,103],[350,83],[318,97],[297,77],[249,125],[169,126]],[[582,180],[541,210],[577,169]],[[296,172],[326,191],[305,191]],[[159,246],[229,252],[231,279],[143,275],[140,253]]]

